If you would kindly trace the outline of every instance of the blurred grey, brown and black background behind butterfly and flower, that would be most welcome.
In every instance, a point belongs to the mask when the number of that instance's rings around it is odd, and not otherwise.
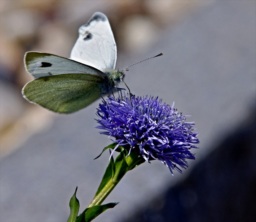
[[[256,219],[255,1],[0,1],[0,221],[66,221],[78,186],[80,213],[108,164],[111,140],[94,128],[98,102],[64,115],[32,105],[26,51],[69,58],[78,28],[108,17],[117,68],[133,94],[163,98],[195,122],[200,149],[183,174],[161,162],[129,172],[95,221]],[[121,86],[122,87],[122,86]]]

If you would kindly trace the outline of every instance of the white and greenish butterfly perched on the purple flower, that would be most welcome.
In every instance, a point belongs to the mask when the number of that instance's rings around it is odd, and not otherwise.
[[[117,90],[125,75],[115,70],[117,47],[106,15],[94,13],[78,32],[70,59],[25,53],[26,72],[35,78],[22,89],[28,102],[57,113],[73,113]]]

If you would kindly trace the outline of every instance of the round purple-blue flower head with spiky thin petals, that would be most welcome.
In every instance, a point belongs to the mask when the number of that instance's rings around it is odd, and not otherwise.
[[[96,114],[100,124],[96,128],[115,138],[115,149],[122,145],[129,154],[138,152],[147,162],[160,160],[171,173],[175,169],[182,173],[179,166],[186,169],[186,159],[195,159],[190,150],[199,143],[197,132],[192,132],[194,123],[186,122],[182,113],[162,104],[158,97],[131,95],[131,100],[121,100],[108,96]]]

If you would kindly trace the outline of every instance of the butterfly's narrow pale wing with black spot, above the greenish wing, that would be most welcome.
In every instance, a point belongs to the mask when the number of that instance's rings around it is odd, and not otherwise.
[[[96,68],[49,53],[26,52],[24,65],[26,71],[35,79],[70,73],[90,74],[106,78],[106,74]]]

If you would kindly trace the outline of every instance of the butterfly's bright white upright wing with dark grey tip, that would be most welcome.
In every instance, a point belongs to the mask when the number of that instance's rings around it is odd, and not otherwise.
[[[70,58],[103,72],[105,69],[115,69],[117,47],[106,15],[94,13],[78,32],[79,37]]]

